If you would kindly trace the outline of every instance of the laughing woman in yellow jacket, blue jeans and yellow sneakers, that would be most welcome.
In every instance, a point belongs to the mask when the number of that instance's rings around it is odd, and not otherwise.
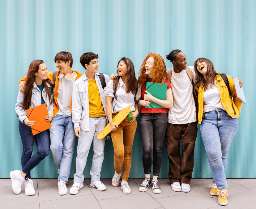
[[[194,87],[198,92],[198,123],[213,175],[210,194],[219,195],[218,203],[226,205],[228,185],[224,171],[227,152],[238,130],[237,118],[242,104],[232,77],[227,75],[229,95],[228,87],[210,60],[199,58],[194,62],[194,68],[197,69]]]

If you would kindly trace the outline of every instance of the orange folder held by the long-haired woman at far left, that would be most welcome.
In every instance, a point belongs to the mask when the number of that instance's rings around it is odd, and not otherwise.
[[[51,128],[51,122],[45,120],[48,111],[46,104],[42,104],[26,110],[29,121],[35,121],[35,124],[31,126],[32,134],[36,135],[44,130]]]

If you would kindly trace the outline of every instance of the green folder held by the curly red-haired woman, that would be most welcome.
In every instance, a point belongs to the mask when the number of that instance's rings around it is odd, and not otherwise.
[[[147,82],[146,91],[160,100],[166,100],[167,83]],[[161,105],[151,102],[146,108],[164,108]]]

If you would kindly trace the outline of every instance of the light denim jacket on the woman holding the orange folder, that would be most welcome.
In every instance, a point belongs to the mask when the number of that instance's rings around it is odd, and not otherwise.
[[[49,88],[51,87],[49,83],[46,83],[46,84]],[[48,94],[46,92],[45,87],[43,88],[42,94],[43,94],[43,99],[47,106],[47,111],[49,114],[51,114],[53,116],[54,91],[52,92],[52,103],[50,103],[50,100],[48,98]],[[19,120],[21,122],[23,122],[23,120],[28,117],[26,111],[24,109],[22,109],[23,95],[24,94],[19,91],[18,97],[17,97],[17,103],[15,105],[15,111],[16,111],[17,116],[19,117]],[[36,83],[34,82],[33,89],[32,89],[30,108],[33,108],[33,107],[36,107],[39,105],[41,105],[41,91],[36,86]]]

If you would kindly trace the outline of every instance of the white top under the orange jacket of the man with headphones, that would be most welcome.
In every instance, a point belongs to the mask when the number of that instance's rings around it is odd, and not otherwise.
[[[72,97],[73,84],[75,82],[77,73],[72,70],[72,79],[67,81],[65,76],[60,79],[60,85],[58,87],[58,106],[59,111],[56,115],[69,115],[71,117],[70,103]]]

